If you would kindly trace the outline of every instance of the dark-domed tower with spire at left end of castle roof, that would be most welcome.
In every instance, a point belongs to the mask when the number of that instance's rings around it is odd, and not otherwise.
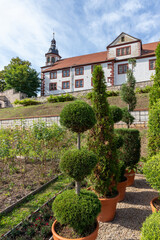
[[[48,52],[45,54],[46,57],[46,66],[51,66],[55,62],[61,59],[58,49],[56,48],[55,34],[53,33],[53,39],[51,41],[51,46]]]

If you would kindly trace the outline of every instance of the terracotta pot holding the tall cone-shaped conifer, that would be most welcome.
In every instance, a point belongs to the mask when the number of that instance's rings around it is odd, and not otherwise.
[[[101,212],[98,215],[98,221],[110,222],[114,219],[118,199],[119,194],[114,198],[99,198],[101,201]]]

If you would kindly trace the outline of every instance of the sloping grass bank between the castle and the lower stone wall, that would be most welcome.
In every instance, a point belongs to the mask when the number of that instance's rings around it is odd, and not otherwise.
[[[148,108],[149,97],[148,93],[137,94],[137,109]],[[83,100],[87,99],[84,97]],[[117,105],[119,107],[125,107],[126,104],[118,97],[109,97],[108,102],[110,105]],[[0,109],[0,119],[6,118],[25,118],[25,117],[35,117],[35,116],[46,116],[46,115],[59,115],[63,107],[70,102],[60,102],[60,103],[44,103],[35,106],[27,107],[14,107]]]

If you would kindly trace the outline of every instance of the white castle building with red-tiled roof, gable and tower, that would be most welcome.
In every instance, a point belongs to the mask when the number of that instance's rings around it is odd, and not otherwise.
[[[155,49],[160,42],[142,44],[138,38],[122,32],[103,52],[71,58],[61,58],[53,34],[46,64],[41,67],[41,95],[70,93],[92,89],[92,72],[101,65],[107,86],[126,82],[126,72],[131,68],[130,58],[136,59],[134,76],[136,82],[150,81],[155,73]]]

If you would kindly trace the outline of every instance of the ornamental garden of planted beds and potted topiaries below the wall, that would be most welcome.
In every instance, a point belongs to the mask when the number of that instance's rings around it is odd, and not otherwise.
[[[134,59],[120,93],[127,108],[109,105],[102,67],[95,66],[91,104],[69,99],[73,101],[63,108],[60,126],[39,122],[30,128],[1,129],[2,239],[50,239],[53,235],[54,240],[95,240],[99,224],[114,220],[117,203],[125,200],[126,188],[139,172],[158,192],[151,201],[152,214],[140,226],[139,239],[159,239],[160,45],[156,57],[148,155],[143,162],[140,132],[130,128],[130,111],[136,106]],[[115,129],[121,120],[126,128]]]

